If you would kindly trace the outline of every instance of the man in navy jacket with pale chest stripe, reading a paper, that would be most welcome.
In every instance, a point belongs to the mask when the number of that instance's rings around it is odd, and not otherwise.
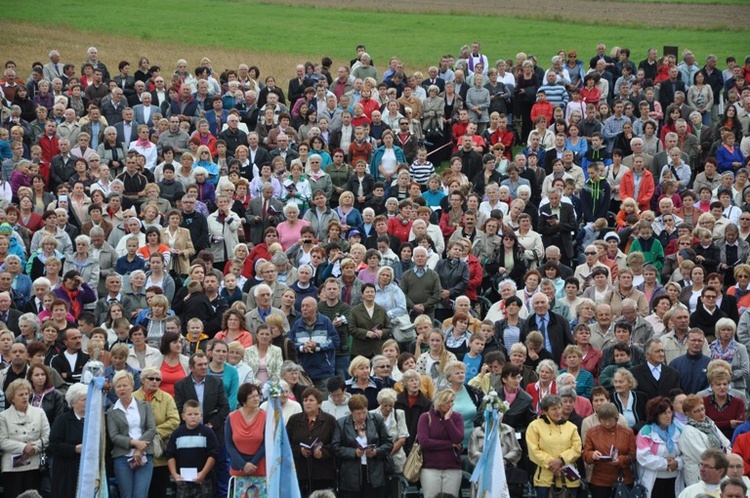
[[[301,317],[289,331],[299,355],[300,365],[321,391],[326,381],[335,374],[336,351],[339,349],[339,334],[331,320],[318,313],[318,301],[313,297],[302,300]]]

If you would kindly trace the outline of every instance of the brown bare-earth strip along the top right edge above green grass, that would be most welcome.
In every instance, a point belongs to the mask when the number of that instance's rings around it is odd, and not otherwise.
[[[645,26],[685,26],[691,28],[727,27],[746,29],[750,5],[696,5],[674,3],[623,3],[607,0],[380,0],[364,4],[354,0],[264,0],[268,3],[376,10],[379,12],[429,12],[436,14],[487,14],[572,22],[608,20],[616,24]],[[460,5],[460,8],[457,7]],[[606,21],[603,21],[606,24]],[[471,30],[467,30],[470,32]],[[481,29],[478,33],[481,33]],[[498,33],[502,27],[498,26]],[[682,43],[683,40],[676,40]],[[592,47],[593,53],[593,47]]]

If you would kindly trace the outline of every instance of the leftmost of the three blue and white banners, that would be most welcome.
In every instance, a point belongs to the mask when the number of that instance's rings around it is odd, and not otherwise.
[[[109,486],[104,466],[104,377],[94,377],[86,396],[81,467],[77,498],[107,498]],[[52,483],[54,486],[55,483]]]

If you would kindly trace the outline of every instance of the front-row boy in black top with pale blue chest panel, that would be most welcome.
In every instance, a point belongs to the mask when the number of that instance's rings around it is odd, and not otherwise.
[[[177,498],[201,498],[212,492],[211,470],[219,458],[219,440],[214,431],[201,423],[201,405],[185,402],[182,420],[169,437],[165,456],[172,479],[177,483]]]

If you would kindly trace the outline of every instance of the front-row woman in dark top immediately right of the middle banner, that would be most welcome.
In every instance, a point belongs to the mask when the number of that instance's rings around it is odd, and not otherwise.
[[[302,392],[301,401],[302,413],[292,415],[286,427],[297,479],[307,495],[332,488],[335,483],[336,463],[331,442],[336,419],[320,409],[323,393],[314,387]]]

